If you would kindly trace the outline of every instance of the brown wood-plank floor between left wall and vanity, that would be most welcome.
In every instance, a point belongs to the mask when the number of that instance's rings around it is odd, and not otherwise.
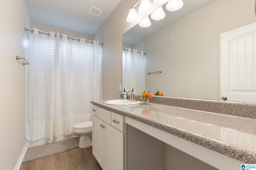
[[[79,138],[75,139],[78,143]],[[102,168],[92,155],[92,147],[88,147],[24,162],[20,170],[102,170]]]

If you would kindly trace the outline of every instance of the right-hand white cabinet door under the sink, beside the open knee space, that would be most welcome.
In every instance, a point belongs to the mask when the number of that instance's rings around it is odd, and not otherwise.
[[[105,170],[124,169],[124,133],[116,128],[105,125],[106,133],[106,164]]]

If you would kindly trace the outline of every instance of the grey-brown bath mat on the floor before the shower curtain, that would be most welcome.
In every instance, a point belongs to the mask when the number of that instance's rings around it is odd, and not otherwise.
[[[28,162],[30,160],[42,158],[44,156],[49,156],[52,154],[57,154],[74,148],[78,148],[78,145],[74,138],[39,145],[36,147],[30,147],[27,149],[22,162]]]

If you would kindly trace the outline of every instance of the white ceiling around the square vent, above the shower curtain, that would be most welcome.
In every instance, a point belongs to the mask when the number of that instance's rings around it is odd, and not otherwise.
[[[88,35],[94,35],[121,0],[26,0],[30,18]],[[91,6],[102,10],[100,16],[89,14]]]

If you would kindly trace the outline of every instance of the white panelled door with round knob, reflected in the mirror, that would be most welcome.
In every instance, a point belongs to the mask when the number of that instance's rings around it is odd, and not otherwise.
[[[256,102],[256,23],[220,34],[220,98]]]

